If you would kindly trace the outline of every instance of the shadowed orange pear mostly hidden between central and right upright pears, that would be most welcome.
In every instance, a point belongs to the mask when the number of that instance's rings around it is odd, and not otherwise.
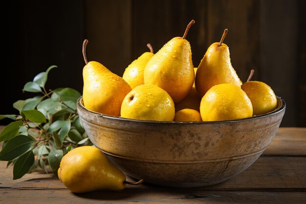
[[[195,73],[197,73],[197,68],[194,68]],[[194,109],[200,111],[201,98],[197,94],[195,83],[189,91],[188,95],[178,103],[175,103],[175,112],[182,109]]]

